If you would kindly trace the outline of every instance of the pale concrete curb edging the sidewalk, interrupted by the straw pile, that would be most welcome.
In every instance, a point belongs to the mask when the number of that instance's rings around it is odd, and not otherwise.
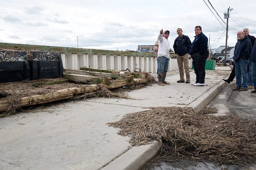
[[[186,107],[192,107],[195,111],[202,110],[217,94],[226,86],[226,82],[219,82],[202,96],[198,97]],[[152,160],[162,147],[162,142],[154,141],[149,145],[132,147],[124,154],[110,162],[101,170],[139,170]]]

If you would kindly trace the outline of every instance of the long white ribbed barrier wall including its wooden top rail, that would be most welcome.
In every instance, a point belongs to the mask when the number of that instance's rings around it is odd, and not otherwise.
[[[65,69],[79,70],[80,67],[101,68],[108,70],[126,70],[152,72],[157,71],[157,61],[154,53],[140,53],[137,51],[112,51],[99,49],[83,49],[72,47],[55,47],[42,45],[24,45],[13,43],[0,43],[0,48],[21,51],[40,50],[57,51],[61,53],[62,64]],[[170,53],[170,70],[178,69],[174,53]],[[192,61],[189,60],[190,68]]]

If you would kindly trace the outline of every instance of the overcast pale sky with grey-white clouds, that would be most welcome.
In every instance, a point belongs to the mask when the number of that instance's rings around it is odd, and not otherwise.
[[[135,51],[138,45],[154,45],[160,29],[168,29],[172,48],[178,27],[193,41],[194,27],[200,25],[214,49],[225,45],[229,6],[228,46],[235,45],[244,27],[256,37],[255,0],[209,1],[3,0],[0,42]]]

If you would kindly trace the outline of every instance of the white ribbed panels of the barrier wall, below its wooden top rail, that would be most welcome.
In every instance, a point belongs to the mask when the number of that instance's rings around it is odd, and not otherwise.
[[[63,67],[79,70],[80,67],[100,68],[109,70],[126,70],[152,72],[157,71],[156,57],[152,56],[127,56],[105,54],[61,53]],[[192,59],[189,60],[192,67]],[[177,59],[170,58],[168,71],[178,69]]]

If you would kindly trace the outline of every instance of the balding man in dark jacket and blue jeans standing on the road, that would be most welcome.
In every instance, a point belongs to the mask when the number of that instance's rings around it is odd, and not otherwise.
[[[233,90],[247,91],[248,83],[248,59],[252,52],[252,45],[248,37],[244,37],[243,31],[237,32],[237,43],[234,50],[236,88]]]

